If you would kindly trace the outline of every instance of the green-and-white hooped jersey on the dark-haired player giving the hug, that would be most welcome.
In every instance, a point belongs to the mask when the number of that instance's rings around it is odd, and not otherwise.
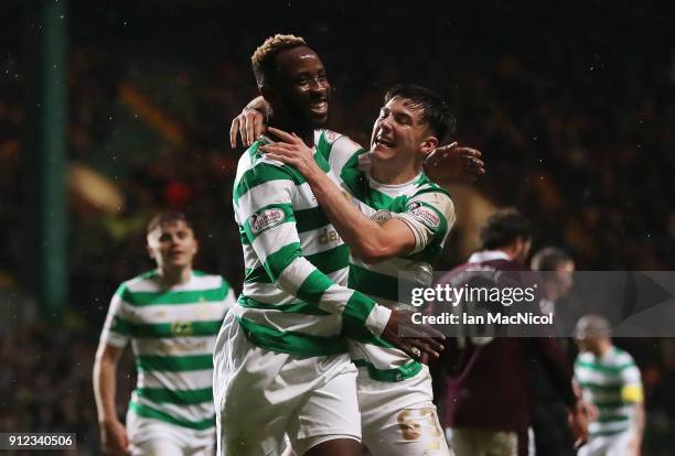
[[[350,258],[349,286],[367,294],[378,304],[398,307],[398,280],[415,286],[429,286],[431,263],[443,249],[454,224],[454,205],[448,192],[424,173],[399,185],[386,185],[369,175],[369,153],[346,137],[339,138],[328,158],[345,194],[366,216],[384,221],[405,221],[416,239],[414,251],[405,257],[366,264]],[[379,337],[357,327],[346,327],[354,363],[367,369],[374,380],[396,382],[421,371],[422,365]]]

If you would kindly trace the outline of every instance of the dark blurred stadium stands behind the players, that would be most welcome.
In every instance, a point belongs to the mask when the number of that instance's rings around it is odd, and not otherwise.
[[[669,270],[675,8],[634,2],[0,2],[0,431],[76,432],[98,453],[90,369],[117,284],[151,268],[143,229],[186,211],[197,267],[240,289],[231,119],[249,56],[303,35],[334,87],[331,123],[367,142],[385,89],[457,106],[488,174],[453,187],[464,260],[494,206],[580,270]],[[675,341],[620,340],[640,365],[644,455],[675,454]],[[133,384],[120,366],[120,414]]]

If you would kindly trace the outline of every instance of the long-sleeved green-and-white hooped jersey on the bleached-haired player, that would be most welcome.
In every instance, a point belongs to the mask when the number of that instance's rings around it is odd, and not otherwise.
[[[314,137],[314,160],[329,175],[335,138],[325,130]],[[239,159],[233,189],[246,267],[234,315],[259,347],[299,356],[346,352],[343,324],[382,334],[389,311],[344,286],[347,247],[304,177],[259,145]]]

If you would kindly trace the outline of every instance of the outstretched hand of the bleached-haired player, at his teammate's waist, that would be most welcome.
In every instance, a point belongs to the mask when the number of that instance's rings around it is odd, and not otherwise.
[[[446,337],[429,325],[413,324],[413,312],[394,310],[381,337],[404,350],[413,359],[421,360],[422,355],[437,359],[443,350],[441,340]],[[405,336],[399,335],[399,326],[406,326]]]

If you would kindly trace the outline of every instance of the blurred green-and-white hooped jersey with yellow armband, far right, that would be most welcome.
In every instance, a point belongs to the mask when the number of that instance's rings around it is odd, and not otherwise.
[[[598,420],[588,425],[591,438],[631,428],[635,402],[642,401],[642,380],[640,369],[628,352],[617,347],[601,358],[582,352],[575,361],[575,379],[583,399],[598,408]]]

